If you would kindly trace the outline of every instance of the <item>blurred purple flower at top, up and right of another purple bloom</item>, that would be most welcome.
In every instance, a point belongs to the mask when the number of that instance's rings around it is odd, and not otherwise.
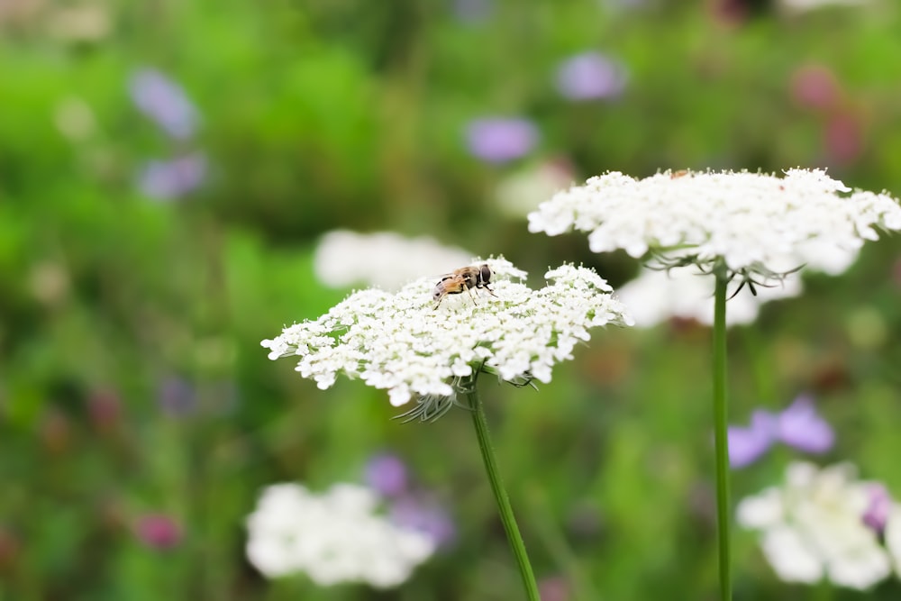
[[[600,52],[584,52],[560,63],[557,89],[569,100],[596,100],[623,93],[626,73],[620,63]]]

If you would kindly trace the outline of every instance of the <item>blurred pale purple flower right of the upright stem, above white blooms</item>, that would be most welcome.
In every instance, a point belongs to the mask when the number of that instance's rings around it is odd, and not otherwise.
[[[816,413],[814,400],[802,395],[781,413],[758,410],[748,427],[729,427],[729,462],[743,468],[760,459],[775,442],[783,442],[798,451],[829,451],[835,434],[832,426]]]

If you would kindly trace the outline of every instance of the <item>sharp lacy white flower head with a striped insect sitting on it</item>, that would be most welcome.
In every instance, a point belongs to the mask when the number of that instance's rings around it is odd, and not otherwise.
[[[551,381],[555,363],[572,358],[588,329],[629,324],[612,288],[591,269],[564,265],[539,290],[514,282],[525,273],[503,259],[487,263],[493,296],[480,289],[447,296],[437,308],[435,280],[419,279],[396,294],[356,292],[314,321],[287,327],[262,341],[269,359],[296,355],[296,370],[320,388],[339,373],[387,389],[392,405],[414,395],[452,396],[454,378],[479,367],[508,381]]]

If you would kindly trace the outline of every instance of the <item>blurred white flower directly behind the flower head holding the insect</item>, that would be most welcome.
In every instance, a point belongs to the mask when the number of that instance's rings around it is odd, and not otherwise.
[[[441,246],[427,236],[405,238],[395,232],[334,230],[314,253],[314,270],[325,286],[364,284],[396,290],[418,274],[440,276],[472,260],[472,253]]]

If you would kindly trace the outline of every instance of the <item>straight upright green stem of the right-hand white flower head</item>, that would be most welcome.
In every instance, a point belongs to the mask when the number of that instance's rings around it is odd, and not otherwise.
[[[720,561],[720,599],[732,599],[729,523],[729,440],[726,405],[726,278],[724,266],[714,271],[714,441],[716,454],[716,536]]]

